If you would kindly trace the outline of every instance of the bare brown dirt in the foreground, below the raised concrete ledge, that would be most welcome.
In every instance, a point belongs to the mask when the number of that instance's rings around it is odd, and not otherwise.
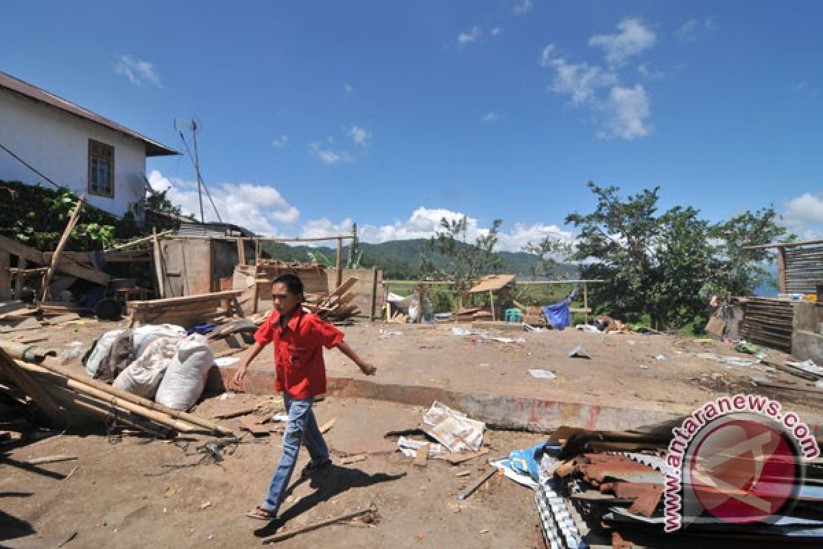
[[[196,412],[210,416],[249,400],[253,397],[210,398]],[[280,451],[277,435],[256,440],[246,435],[219,465],[165,468],[197,463],[199,454],[185,454],[194,453],[203,440],[170,443],[132,435],[66,434],[15,449],[0,462],[0,523],[7,523],[0,527],[0,539],[6,537],[0,545],[58,547],[76,533],[65,547],[256,547],[278,528],[291,531],[374,503],[377,525],[334,525],[279,545],[537,547],[532,491],[495,475],[461,502],[458,493],[489,470],[482,458],[458,466],[429,460],[419,468],[393,451],[385,430],[416,427],[421,408],[329,398],[319,402],[316,412],[321,424],[337,418],[326,435],[335,464],[310,481],[298,482],[295,473],[280,522],[267,526],[243,516],[265,494]],[[540,435],[500,431],[487,431],[485,437],[490,455],[540,440]],[[377,453],[341,463],[341,452],[366,449]],[[77,461],[39,468],[17,464],[54,454],[74,454]],[[307,459],[301,452],[298,468]],[[462,472],[469,474],[458,476]],[[9,538],[30,530],[35,533],[29,537]]]

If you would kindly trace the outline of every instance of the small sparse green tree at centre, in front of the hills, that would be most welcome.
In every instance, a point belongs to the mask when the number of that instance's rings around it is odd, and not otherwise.
[[[429,240],[423,252],[436,252],[448,258],[444,268],[436,268],[424,253],[421,253],[421,275],[448,279],[455,282],[456,291],[465,291],[483,275],[500,272],[502,261],[495,254],[495,246],[500,235],[503,221],[495,219],[485,234],[477,236],[474,243],[468,242],[468,219],[463,216],[458,220],[443,218],[435,236]]]

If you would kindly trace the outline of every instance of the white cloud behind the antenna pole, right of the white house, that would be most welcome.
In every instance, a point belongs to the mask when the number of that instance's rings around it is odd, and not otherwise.
[[[169,179],[158,170],[151,170],[149,184],[157,191],[168,189],[169,200],[179,205],[184,214],[199,218],[200,205],[196,181]],[[266,236],[279,234],[277,226],[293,225],[300,221],[300,210],[286,202],[277,188],[267,184],[221,183],[210,187],[212,199],[221,219],[226,223],[253,230]],[[203,196],[206,221],[217,221],[212,204]]]

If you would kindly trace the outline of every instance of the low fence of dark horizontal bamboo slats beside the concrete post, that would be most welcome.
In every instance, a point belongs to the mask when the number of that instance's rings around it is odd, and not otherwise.
[[[740,335],[746,341],[783,352],[792,351],[793,301],[753,297],[742,302]]]

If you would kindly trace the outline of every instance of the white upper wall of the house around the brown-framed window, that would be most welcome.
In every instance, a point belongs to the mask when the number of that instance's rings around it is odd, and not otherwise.
[[[114,198],[88,193],[89,139],[114,147]],[[146,146],[143,142],[0,89],[0,143],[57,184],[121,216],[143,198]],[[0,149],[0,180],[50,186]]]

